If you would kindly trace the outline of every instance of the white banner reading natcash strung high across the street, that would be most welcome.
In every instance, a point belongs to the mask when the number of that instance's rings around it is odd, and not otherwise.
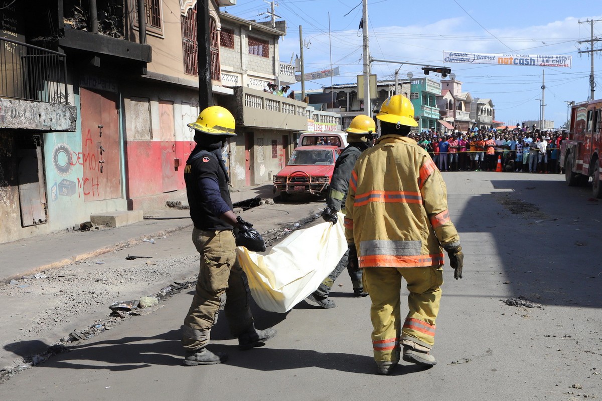
[[[554,56],[545,54],[488,54],[443,52],[446,63],[501,64],[505,66],[568,67],[571,68],[572,56]]]

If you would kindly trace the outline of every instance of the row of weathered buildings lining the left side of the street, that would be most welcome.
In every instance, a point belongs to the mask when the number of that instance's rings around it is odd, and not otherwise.
[[[233,3],[207,2],[209,57],[212,101],[237,120],[224,157],[243,186],[268,182],[310,121],[337,116],[262,91],[294,82],[294,67],[278,61],[284,23],[220,13]],[[3,10],[0,242],[160,209],[184,191],[195,145],[186,124],[199,114],[197,2],[137,5],[30,0]]]

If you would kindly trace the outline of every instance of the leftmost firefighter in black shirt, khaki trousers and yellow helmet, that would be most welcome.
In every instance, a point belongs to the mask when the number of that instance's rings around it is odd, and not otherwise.
[[[223,107],[211,106],[188,127],[195,130],[197,145],[186,162],[184,180],[200,269],[196,292],[182,325],[182,345],[185,365],[213,365],[228,358],[206,349],[220,310],[224,310],[240,349],[263,345],[263,341],[276,335],[276,330],[255,328],[249,308],[249,284],[236,260],[233,230],[245,230],[250,224],[237,221],[232,211],[228,171],[222,159],[226,139],[236,136],[234,117]]]

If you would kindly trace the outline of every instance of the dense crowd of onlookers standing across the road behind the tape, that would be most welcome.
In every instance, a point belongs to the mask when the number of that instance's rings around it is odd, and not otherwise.
[[[533,124],[504,129],[479,129],[467,132],[410,133],[429,153],[440,171],[502,171],[561,174],[560,144],[565,131],[540,130]]]

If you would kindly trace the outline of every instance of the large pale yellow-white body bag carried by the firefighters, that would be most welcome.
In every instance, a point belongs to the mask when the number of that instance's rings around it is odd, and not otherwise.
[[[285,313],[314,292],[347,251],[343,214],[337,224],[323,222],[295,231],[267,255],[237,248],[255,302]]]

